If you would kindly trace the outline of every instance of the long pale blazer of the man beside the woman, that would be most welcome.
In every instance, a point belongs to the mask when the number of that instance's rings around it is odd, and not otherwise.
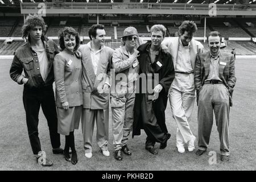
[[[109,107],[109,93],[99,94],[98,89],[105,83],[110,83],[110,61],[114,50],[106,46],[102,47],[97,74],[95,75],[88,44],[79,47],[82,54],[83,107],[85,109],[107,109]]]

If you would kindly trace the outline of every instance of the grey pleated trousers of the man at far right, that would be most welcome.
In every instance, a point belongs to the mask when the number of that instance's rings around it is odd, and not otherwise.
[[[221,155],[229,155],[229,91],[224,84],[205,84],[199,93],[198,146],[207,150],[213,125],[213,110],[220,137]]]

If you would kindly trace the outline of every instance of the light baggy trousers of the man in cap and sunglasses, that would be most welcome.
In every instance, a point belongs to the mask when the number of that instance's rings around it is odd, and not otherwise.
[[[127,144],[133,130],[133,107],[135,93],[126,93],[123,97],[111,96],[113,145],[120,150]]]

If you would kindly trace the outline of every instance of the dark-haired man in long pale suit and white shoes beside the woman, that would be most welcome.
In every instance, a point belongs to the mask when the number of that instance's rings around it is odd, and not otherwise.
[[[92,135],[96,120],[96,140],[104,156],[109,156],[109,87],[110,60],[114,50],[104,46],[105,30],[102,24],[93,24],[89,30],[90,42],[80,46],[82,53],[82,133],[85,157],[92,158]]]

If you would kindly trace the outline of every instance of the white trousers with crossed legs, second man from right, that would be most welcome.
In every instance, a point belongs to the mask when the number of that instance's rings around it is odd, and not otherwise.
[[[177,124],[176,145],[184,145],[193,136],[189,127],[196,100],[193,73],[175,73],[169,90],[169,100],[172,117]]]

